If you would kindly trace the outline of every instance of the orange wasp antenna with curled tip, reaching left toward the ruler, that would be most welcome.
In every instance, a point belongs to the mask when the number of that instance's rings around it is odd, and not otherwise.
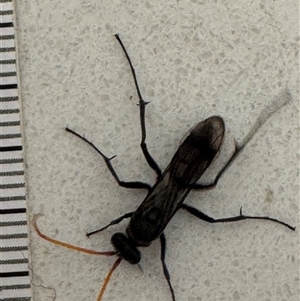
[[[81,248],[81,247],[77,247],[77,246],[65,243],[65,242],[60,241],[60,240],[56,240],[54,238],[51,238],[51,237],[45,235],[44,233],[42,233],[40,231],[40,229],[38,228],[37,223],[36,223],[37,219],[42,215],[43,214],[36,214],[36,215],[33,216],[33,219],[32,219],[33,228],[35,229],[35,231],[37,232],[37,234],[41,238],[43,238],[43,239],[45,239],[45,240],[47,240],[47,241],[49,241],[49,242],[51,242],[55,245],[59,245],[59,246],[65,247],[67,249],[75,250],[75,251],[82,252],[82,253],[87,253],[87,254],[92,254],[92,255],[104,255],[104,256],[116,255],[116,252],[113,252],[113,251],[98,252],[98,251],[94,251],[94,250],[89,250],[89,249],[85,249],[85,248]]]

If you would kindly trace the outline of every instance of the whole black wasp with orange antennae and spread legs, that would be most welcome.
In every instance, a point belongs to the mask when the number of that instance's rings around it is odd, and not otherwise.
[[[87,234],[87,236],[90,236],[94,233],[103,231],[112,225],[118,224],[125,218],[130,218],[129,225],[126,228],[126,234],[115,233],[111,238],[111,243],[114,246],[115,251],[97,252],[52,239],[51,237],[48,237],[45,234],[43,234],[38,229],[36,225],[36,219],[38,215],[34,217],[33,225],[42,238],[52,243],[89,254],[118,256],[118,259],[114,263],[113,267],[109,271],[104,281],[102,289],[97,297],[97,301],[100,301],[102,299],[104,290],[109,282],[109,279],[113,271],[121,262],[121,260],[125,259],[131,264],[138,264],[141,260],[141,253],[138,250],[138,247],[149,246],[155,239],[159,238],[161,243],[161,262],[163,272],[171,291],[172,300],[175,301],[174,290],[171,285],[170,275],[165,262],[166,238],[163,231],[168,225],[170,219],[177,212],[177,210],[184,209],[192,215],[209,223],[236,222],[245,219],[262,219],[273,221],[283,226],[286,226],[291,230],[295,230],[294,227],[274,218],[270,218],[267,216],[243,215],[242,209],[240,210],[240,214],[237,216],[214,219],[199,211],[198,209],[183,203],[191,190],[203,190],[213,188],[214,186],[216,186],[221,175],[230,166],[230,164],[234,161],[237,155],[243,150],[245,145],[251,140],[251,138],[254,136],[259,127],[261,127],[262,124],[264,124],[267,121],[267,119],[285,103],[279,104],[279,106],[275,110],[273,109],[273,111],[272,109],[270,110],[270,108],[268,108],[268,110],[265,110],[263,114],[261,114],[261,117],[258,118],[257,122],[255,123],[248,136],[246,136],[243,143],[238,145],[235,142],[235,150],[233,154],[231,155],[230,159],[225,164],[225,166],[219,171],[215,180],[211,184],[202,185],[198,184],[197,181],[200,179],[200,177],[203,175],[205,170],[215,158],[216,154],[221,149],[225,133],[225,124],[220,116],[213,116],[207,118],[204,121],[199,122],[189,132],[187,138],[185,138],[185,140],[180,144],[171,162],[169,163],[165,171],[162,172],[160,167],[153,159],[153,157],[150,155],[145,142],[145,107],[148,104],[148,102],[145,102],[143,100],[138,86],[135,70],[131,63],[131,59],[123,45],[123,42],[121,41],[118,35],[115,35],[115,37],[120,43],[131,68],[136,91],[139,97],[140,124],[142,131],[141,148],[149,166],[155,171],[157,175],[157,181],[154,184],[154,186],[150,186],[147,183],[139,181],[121,181],[111,164],[111,160],[114,157],[106,157],[92,142],[88,141],[85,137],[79,135],[75,131],[66,128],[68,132],[74,134],[75,136],[88,143],[102,156],[106,163],[106,166],[108,167],[109,171],[120,186],[126,188],[147,189],[148,194],[136,211],[126,213],[121,217],[110,222],[107,226]]]

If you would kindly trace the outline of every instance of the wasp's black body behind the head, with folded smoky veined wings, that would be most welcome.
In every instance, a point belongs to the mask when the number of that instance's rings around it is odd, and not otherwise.
[[[190,131],[130,220],[126,232],[137,245],[149,245],[159,237],[191,185],[199,180],[220,150],[224,132],[225,124],[219,116],[198,123]]]

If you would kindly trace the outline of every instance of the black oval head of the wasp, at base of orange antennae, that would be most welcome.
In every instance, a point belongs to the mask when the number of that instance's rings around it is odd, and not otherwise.
[[[123,233],[115,233],[111,237],[111,243],[115,247],[118,255],[130,262],[131,264],[137,264],[141,260],[141,253],[136,246],[130,241],[130,239]]]

